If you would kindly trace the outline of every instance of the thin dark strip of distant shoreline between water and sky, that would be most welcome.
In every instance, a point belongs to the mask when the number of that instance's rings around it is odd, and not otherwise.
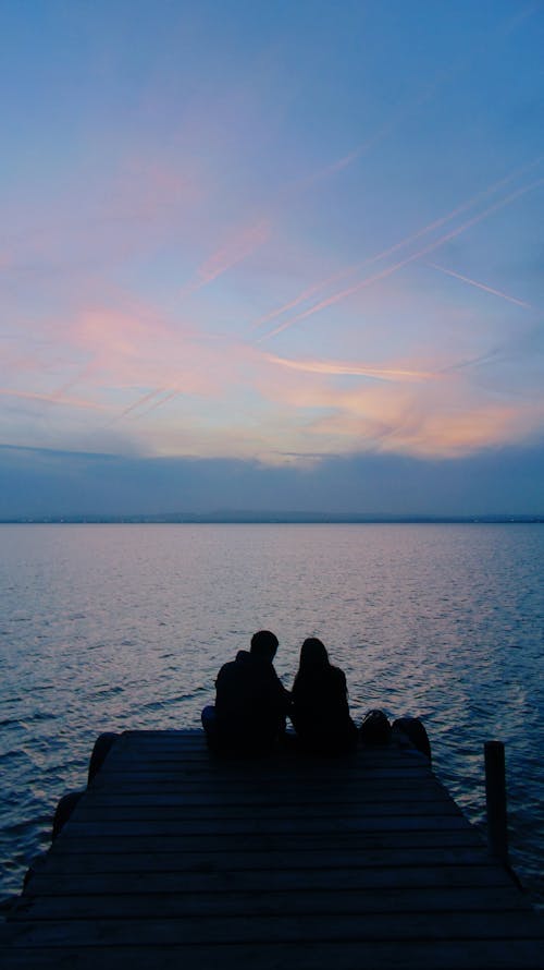
[[[535,525],[542,516],[371,516],[329,512],[173,512],[157,516],[18,516],[0,525]]]

